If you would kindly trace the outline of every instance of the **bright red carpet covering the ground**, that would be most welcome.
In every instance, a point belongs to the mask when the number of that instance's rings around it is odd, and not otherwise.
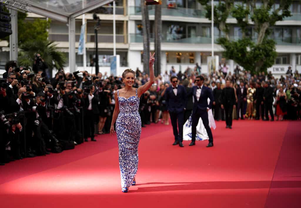
[[[120,187],[116,136],[101,135],[97,142],[85,142],[74,150],[0,167],[1,204],[299,207],[295,203],[301,193],[299,126],[297,121],[246,120],[234,121],[229,130],[220,121],[213,130],[213,148],[205,147],[207,141],[192,147],[186,141],[180,148],[171,145],[171,126],[151,124],[142,129],[137,185],[127,194]]]

